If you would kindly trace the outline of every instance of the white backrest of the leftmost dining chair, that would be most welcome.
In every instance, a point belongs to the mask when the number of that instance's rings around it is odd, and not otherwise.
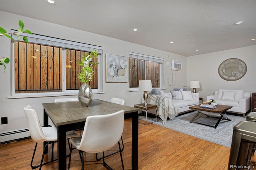
[[[28,128],[32,140],[38,143],[45,141],[45,136],[42,131],[36,111],[30,105],[24,107],[24,112],[28,121]]]

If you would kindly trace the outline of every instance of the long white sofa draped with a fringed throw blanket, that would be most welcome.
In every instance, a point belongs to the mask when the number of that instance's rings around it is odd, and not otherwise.
[[[177,115],[182,115],[182,114],[188,113],[188,112],[192,111],[191,109],[188,109],[188,107],[190,107],[192,105],[198,105],[199,104],[199,93],[191,93],[190,91],[183,92],[183,93],[190,93],[192,95],[192,99],[188,99],[188,97],[184,96],[185,100],[174,100],[173,97],[172,97],[172,93],[170,93],[170,92],[164,93],[162,91],[160,91],[160,92],[161,92],[160,95],[164,95],[164,96],[168,97],[168,100],[170,100],[169,102],[171,102],[174,105],[174,107],[178,107],[178,114]],[[148,104],[157,105],[156,101],[150,100],[150,95],[148,95],[148,96],[149,96],[148,97]],[[143,98],[142,98],[142,103],[144,103]],[[155,109],[148,110],[148,113],[156,114],[156,110]]]

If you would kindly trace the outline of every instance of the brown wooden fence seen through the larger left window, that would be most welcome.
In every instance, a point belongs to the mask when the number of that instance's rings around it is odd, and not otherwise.
[[[79,89],[82,83],[76,61],[84,51],[66,49],[66,90]],[[15,93],[62,91],[62,48],[33,43],[14,42]],[[98,88],[97,66],[89,85]]]

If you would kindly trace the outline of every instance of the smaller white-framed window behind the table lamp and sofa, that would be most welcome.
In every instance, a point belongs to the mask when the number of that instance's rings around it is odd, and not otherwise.
[[[139,80],[151,80],[153,88],[163,85],[164,59],[130,52],[130,88],[138,88]]]

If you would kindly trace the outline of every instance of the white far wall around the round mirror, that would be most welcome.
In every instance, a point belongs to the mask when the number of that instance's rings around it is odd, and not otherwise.
[[[246,63],[247,72],[237,81],[226,81],[218,74],[219,65],[229,58],[238,58]],[[187,77],[188,84],[191,80],[200,82],[196,91],[204,100],[218,89],[256,92],[256,45],[187,57]]]

